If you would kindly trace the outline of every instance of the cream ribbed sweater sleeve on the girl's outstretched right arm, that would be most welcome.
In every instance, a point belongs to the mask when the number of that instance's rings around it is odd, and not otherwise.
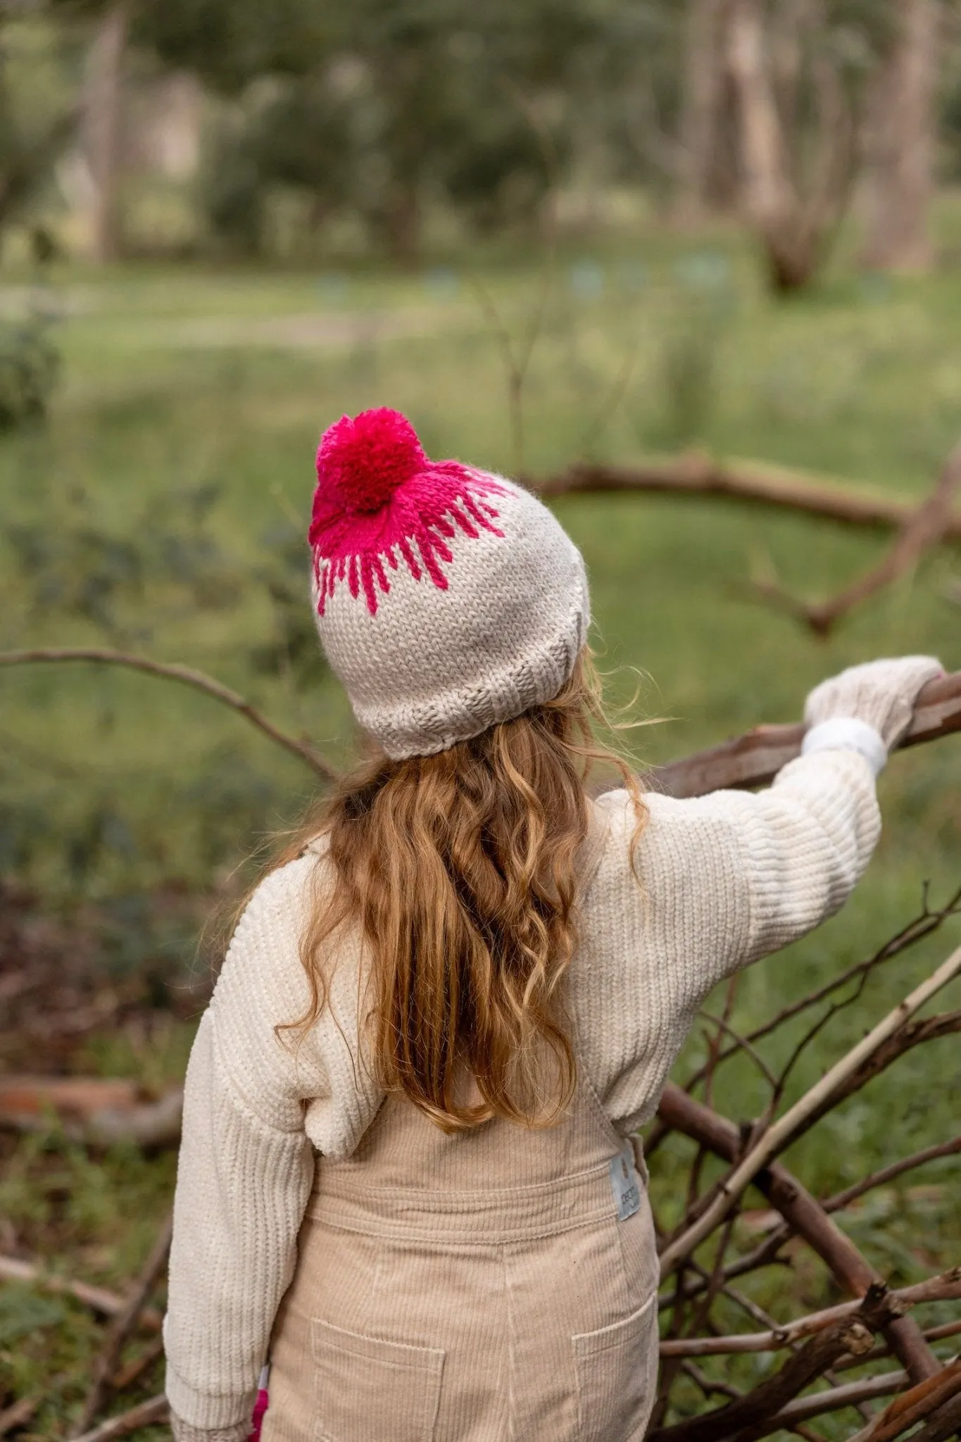
[[[758,795],[648,795],[634,852],[625,792],[608,823],[571,968],[585,1066],[624,1132],[647,1120],[707,992],[837,911],[880,831],[875,777],[853,751],[787,766]]]

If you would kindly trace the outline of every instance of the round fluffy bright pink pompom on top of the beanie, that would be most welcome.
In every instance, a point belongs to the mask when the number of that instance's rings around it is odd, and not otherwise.
[[[405,482],[428,464],[406,415],[382,405],[341,415],[320,438],[317,489],[336,492],[344,510],[380,510]]]

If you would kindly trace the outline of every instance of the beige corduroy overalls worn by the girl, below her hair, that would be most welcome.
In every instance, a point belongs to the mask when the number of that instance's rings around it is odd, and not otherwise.
[[[448,1136],[390,1097],[350,1159],[318,1159],[264,1442],[640,1442],[651,1213],[581,1076],[547,1131]]]

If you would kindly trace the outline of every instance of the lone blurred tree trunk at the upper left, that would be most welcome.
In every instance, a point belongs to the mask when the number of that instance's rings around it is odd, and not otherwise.
[[[95,261],[117,260],[120,234],[121,85],[128,16],[124,3],[99,20],[86,63],[84,140],[94,182],[91,252]]]

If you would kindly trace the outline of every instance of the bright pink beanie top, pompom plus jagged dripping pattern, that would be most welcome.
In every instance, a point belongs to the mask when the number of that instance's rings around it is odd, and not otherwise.
[[[317,611],[339,584],[377,613],[377,591],[390,590],[388,570],[403,562],[419,581],[445,591],[444,564],[458,531],[503,536],[490,496],[504,495],[491,476],[460,461],[428,460],[414,427],[386,407],[341,417],[317,451],[317,490],[310,526]]]

